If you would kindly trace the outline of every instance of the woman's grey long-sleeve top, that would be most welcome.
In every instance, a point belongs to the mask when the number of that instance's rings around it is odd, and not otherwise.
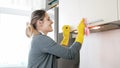
[[[63,47],[40,33],[32,39],[28,68],[55,68],[56,57],[74,59],[80,48],[81,44],[78,42],[74,42],[69,48]]]

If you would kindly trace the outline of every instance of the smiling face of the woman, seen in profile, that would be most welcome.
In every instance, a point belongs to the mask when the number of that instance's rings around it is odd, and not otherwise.
[[[46,13],[45,14],[45,18],[42,22],[42,31],[44,33],[48,33],[48,32],[51,32],[53,31],[52,29],[52,24],[53,24],[53,21],[50,19],[50,17],[48,16],[48,14]]]

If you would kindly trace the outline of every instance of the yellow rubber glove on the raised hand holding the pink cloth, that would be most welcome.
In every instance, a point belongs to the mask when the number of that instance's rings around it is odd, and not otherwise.
[[[84,40],[84,29],[85,29],[85,20],[84,18],[81,20],[80,24],[77,27],[78,35],[76,36],[75,42],[83,43]]]

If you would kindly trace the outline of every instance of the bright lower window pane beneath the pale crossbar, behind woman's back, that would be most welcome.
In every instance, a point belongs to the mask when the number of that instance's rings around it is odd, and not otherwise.
[[[26,66],[29,39],[25,36],[29,17],[0,14],[0,67]]]

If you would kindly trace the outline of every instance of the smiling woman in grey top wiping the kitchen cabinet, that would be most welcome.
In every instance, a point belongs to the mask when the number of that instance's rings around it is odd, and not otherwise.
[[[74,59],[79,52],[84,39],[84,24],[79,26],[80,34],[76,37],[75,43],[66,48],[57,44],[47,36],[53,31],[50,17],[45,10],[36,10],[32,13],[31,23],[26,29],[28,37],[33,36],[29,52],[28,68],[55,68],[56,57]]]

